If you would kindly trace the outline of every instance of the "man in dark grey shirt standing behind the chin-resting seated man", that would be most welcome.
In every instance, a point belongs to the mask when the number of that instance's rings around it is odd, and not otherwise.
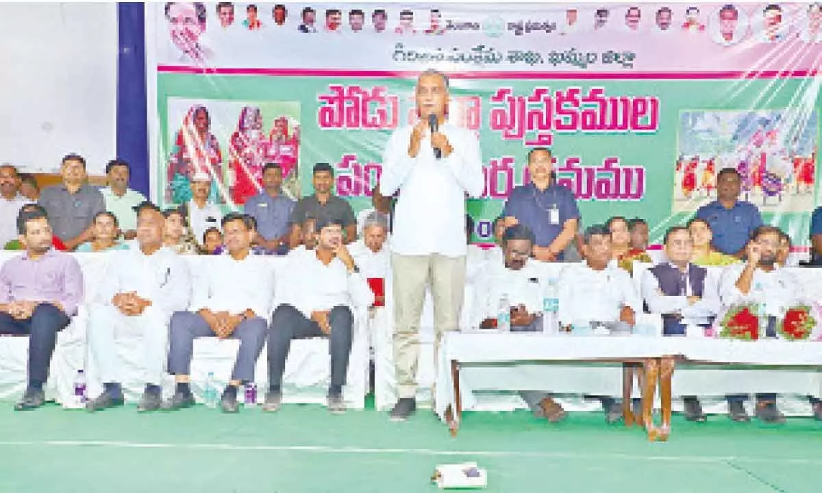
[[[291,225],[291,248],[300,244],[301,224],[308,218],[333,219],[342,224],[345,235],[343,242],[349,244],[357,239],[357,218],[351,205],[332,192],[334,188],[334,170],[328,163],[314,165],[312,177],[314,194],[304,196],[294,205],[289,224]]]

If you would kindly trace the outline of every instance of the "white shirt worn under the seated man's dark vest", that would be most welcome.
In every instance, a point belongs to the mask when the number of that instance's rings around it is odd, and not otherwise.
[[[690,268],[690,265],[689,265]],[[690,279],[686,283],[686,293],[681,296],[667,296],[659,288],[659,279],[650,270],[642,273],[642,297],[648,303],[651,313],[658,314],[679,314],[682,316],[684,325],[704,325],[708,323],[711,316],[716,316],[719,312],[719,286],[718,279],[711,275],[711,271],[705,274],[704,286],[702,287],[702,298],[693,305],[688,304],[688,296],[692,294]]]

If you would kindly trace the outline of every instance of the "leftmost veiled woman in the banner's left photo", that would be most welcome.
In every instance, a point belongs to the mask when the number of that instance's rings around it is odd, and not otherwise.
[[[208,173],[211,177],[209,201],[224,202],[219,188],[223,182],[223,154],[217,137],[210,131],[211,117],[205,106],[196,104],[189,108],[182,120],[182,127],[174,138],[169,156],[168,181],[165,200],[170,204],[184,204],[192,198],[191,179],[195,173]]]

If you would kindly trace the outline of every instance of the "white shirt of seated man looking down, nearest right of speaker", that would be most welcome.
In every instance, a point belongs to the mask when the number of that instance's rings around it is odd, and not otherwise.
[[[509,306],[524,305],[531,315],[543,313],[543,285],[530,261],[520,270],[508,269],[503,263],[488,265],[478,280],[480,321],[496,318],[503,294],[507,295]]]

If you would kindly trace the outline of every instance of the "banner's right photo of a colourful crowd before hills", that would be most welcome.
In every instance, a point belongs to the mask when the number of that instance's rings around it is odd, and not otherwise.
[[[716,199],[722,168],[741,175],[741,200],[763,210],[814,208],[818,113],[808,109],[682,112],[675,212]]]

